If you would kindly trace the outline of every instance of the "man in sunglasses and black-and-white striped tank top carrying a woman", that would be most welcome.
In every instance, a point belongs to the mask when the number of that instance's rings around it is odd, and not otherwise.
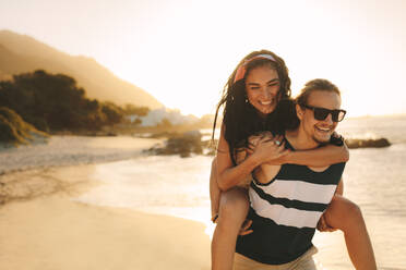
[[[296,102],[299,124],[286,131],[286,147],[306,150],[327,144],[346,113],[338,88],[326,79],[313,79]],[[239,236],[235,269],[315,269],[311,241],[344,167],[261,165],[249,188],[253,233]]]

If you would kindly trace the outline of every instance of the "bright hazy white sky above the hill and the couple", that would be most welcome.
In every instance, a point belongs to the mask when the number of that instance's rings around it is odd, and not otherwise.
[[[195,115],[214,112],[242,57],[270,49],[294,95],[329,78],[357,116],[406,113],[405,14],[403,0],[0,0],[0,29],[92,57]]]

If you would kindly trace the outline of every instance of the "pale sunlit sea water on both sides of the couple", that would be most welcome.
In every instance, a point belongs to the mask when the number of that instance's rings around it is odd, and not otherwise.
[[[343,121],[345,137],[386,137],[386,148],[351,149],[344,172],[344,195],[362,210],[379,269],[406,269],[406,115]],[[212,157],[148,156],[97,164],[92,175],[103,185],[75,198],[210,222],[208,175]],[[317,233],[317,260],[325,269],[353,269],[341,232]]]

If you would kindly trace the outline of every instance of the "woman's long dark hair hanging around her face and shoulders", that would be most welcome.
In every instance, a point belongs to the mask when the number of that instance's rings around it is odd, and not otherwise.
[[[275,61],[264,58],[252,59],[259,54],[268,54]],[[247,70],[244,77],[235,82],[237,70],[242,64],[246,64]],[[265,118],[261,116],[256,109],[250,102],[248,102],[246,93],[247,75],[252,69],[264,65],[276,70],[280,84],[276,109],[274,110],[274,112],[271,112]],[[274,52],[268,50],[253,51],[240,61],[232,74],[229,76],[227,84],[223,89],[223,96],[217,105],[216,114],[214,118],[212,135],[212,138],[214,138],[218,111],[224,106],[223,124],[225,127],[225,139],[229,145],[230,157],[234,164],[236,164],[236,161],[234,159],[235,150],[242,146],[247,146],[247,139],[250,135],[253,135],[261,131],[272,131],[275,133],[280,133],[286,127],[282,123],[285,121],[279,121],[278,119],[280,116],[284,116],[284,113],[280,113],[282,111],[290,110],[286,109],[291,108],[290,95],[291,90],[288,69],[286,68],[285,61],[276,56]],[[285,108],[282,111],[278,109],[280,107],[279,103],[284,105]],[[288,105],[288,107],[285,107],[285,105]]]

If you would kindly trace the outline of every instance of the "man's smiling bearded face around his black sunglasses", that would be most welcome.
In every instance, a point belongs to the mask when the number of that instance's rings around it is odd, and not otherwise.
[[[341,109],[341,97],[334,91],[326,90],[313,90],[307,102],[307,106],[309,107],[318,107],[329,110]],[[308,138],[313,139],[318,144],[329,143],[331,135],[338,124],[338,122],[332,120],[331,113],[329,113],[324,120],[317,120],[314,118],[314,111],[308,108],[300,108],[298,110],[298,116]]]

